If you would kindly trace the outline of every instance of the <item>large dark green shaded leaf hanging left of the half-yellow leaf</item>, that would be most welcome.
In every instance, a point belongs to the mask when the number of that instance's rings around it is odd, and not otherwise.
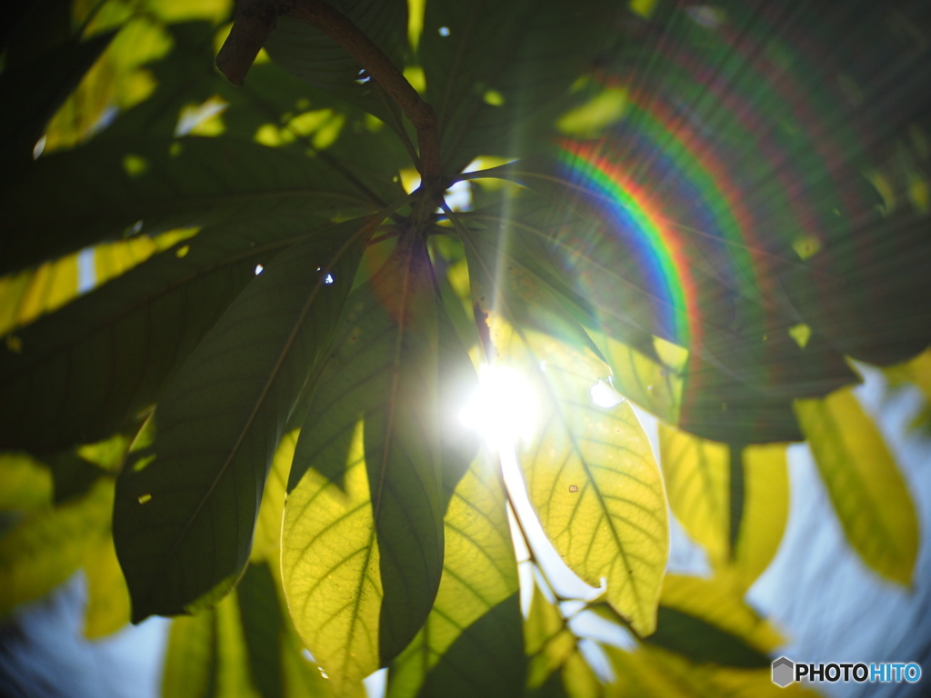
[[[159,401],[155,460],[123,471],[115,505],[135,621],[195,608],[245,567],[275,446],[379,222],[340,224],[279,255]]]

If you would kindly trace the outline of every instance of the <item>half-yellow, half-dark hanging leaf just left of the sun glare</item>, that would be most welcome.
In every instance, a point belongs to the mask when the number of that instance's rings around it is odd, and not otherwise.
[[[443,559],[438,302],[423,242],[401,239],[346,305],[291,467],[289,607],[337,686],[424,623]]]

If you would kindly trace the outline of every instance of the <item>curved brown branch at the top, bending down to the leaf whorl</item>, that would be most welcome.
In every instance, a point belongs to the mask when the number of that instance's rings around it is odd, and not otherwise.
[[[233,29],[217,55],[217,67],[230,82],[241,85],[252,61],[275,28],[280,15],[307,22],[337,44],[365,69],[371,79],[398,103],[417,131],[420,172],[426,191],[445,189],[439,161],[439,128],[433,107],[420,99],[411,83],[381,48],[346,17],[322,0],[238,0]]]

